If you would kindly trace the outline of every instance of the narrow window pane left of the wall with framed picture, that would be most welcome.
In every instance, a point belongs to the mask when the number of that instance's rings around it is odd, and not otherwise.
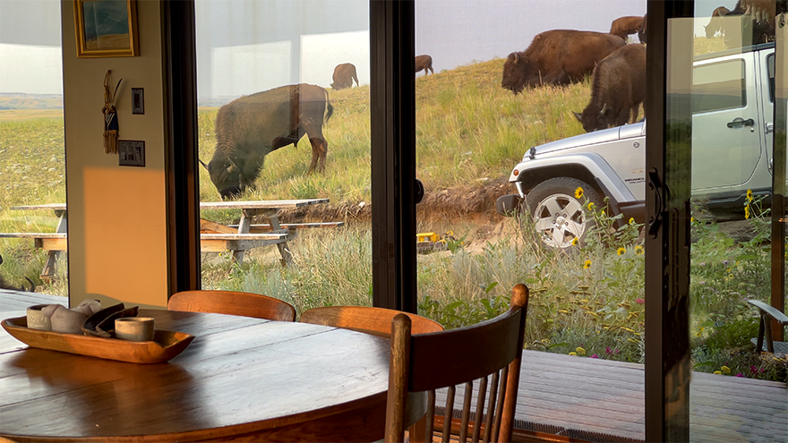
[[[60,2],[0,3],[0,60],[0,282],[67,297],[65,212],[40,207],[65,208]]]

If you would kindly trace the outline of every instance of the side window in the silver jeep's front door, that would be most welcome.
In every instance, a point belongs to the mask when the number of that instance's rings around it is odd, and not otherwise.
[[[744,61],[695,66],[692,74],[692,114],[747,105]]]

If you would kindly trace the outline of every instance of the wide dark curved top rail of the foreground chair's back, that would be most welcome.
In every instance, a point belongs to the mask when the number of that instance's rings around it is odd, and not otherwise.
[[[466,328],[412,337],[408,389],[417,392],[448,388],[500,370],[517,356],[518,325],[522,316],[521,310],[510,310]],[[449,352],[458,349],[484,349],[484,352],[474,354],[474,364],[468,365],[467,353]],[[441,371],[434,371],[434,368],[441,368]]]

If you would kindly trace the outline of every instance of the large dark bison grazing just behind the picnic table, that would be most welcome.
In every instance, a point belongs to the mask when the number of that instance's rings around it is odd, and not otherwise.
[[[222,199],[235,197],[251,187],[271,151],[297,145],[304,133],[312,144],[312,173],[320,161],[326,166],[329,143],[322,125],[334,107],[320,86],[297,84],[236,98],[216,115],[216,149],[206,165],[210,181]]]

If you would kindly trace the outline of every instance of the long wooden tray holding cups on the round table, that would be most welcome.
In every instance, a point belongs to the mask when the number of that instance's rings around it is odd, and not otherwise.
[[[132,363],[161,363],[181,354],[194,336],[157,329],[152,342],[130,342],[116,338],[88,337],[28,328],[27,317],[4,319],[0,326],[30,347],[89,355]]]

